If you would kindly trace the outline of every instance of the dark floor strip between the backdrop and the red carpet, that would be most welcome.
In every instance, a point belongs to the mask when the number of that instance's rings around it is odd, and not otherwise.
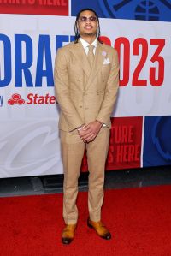
[[[88,173],[81,173],[80,191],[87,191]],[[0,197],[62,193],[63,175],[0,179]],[[105,188],[138,188],[171,184],[171,166],[106,171]]]

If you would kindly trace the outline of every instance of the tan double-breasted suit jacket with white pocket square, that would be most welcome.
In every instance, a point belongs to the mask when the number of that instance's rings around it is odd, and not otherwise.
[[[92,68],[80,41],[57,51],[55,86],[61,108],[60,129],[72,131],[96,119],[110,128],[118,90],[118,69],[115,49],[99,42]]]

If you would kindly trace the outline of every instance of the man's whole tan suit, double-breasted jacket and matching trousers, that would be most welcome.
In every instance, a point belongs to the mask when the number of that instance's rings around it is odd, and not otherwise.
[[[76,198],[80,165],[86,148],[89,168],[88,207],[92,221],[101,219],[104,165],[109,147],[110,115],[118,90],[119,64],[115,49],[97,42],[92,68],[80,41],[57,51],[55,63],[56,97],[64,166],[63,217],[77,223]],[[98,120],[101,128],[94,141],[85,144],[75,130],[81,124]]]

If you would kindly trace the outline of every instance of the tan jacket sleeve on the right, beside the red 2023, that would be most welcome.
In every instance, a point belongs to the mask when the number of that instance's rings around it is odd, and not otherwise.
[[[103,103],[97,115],[97,120],[105,124],[109,123],[110,116],[114,110],[114,105],[119,88],[119,62],[117,51],[113,49],[113,57],[111,62],[111,69],[109,79],[105,89]]]

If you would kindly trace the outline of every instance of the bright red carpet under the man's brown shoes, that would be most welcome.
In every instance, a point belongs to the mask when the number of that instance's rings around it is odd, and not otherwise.
[[[108,190],[103,222],[113,238],[103,241],[86,227],[87,193],[70,246],[61,243],[62,194],[0,198],[1,256],[171,256],[171,186]]]

